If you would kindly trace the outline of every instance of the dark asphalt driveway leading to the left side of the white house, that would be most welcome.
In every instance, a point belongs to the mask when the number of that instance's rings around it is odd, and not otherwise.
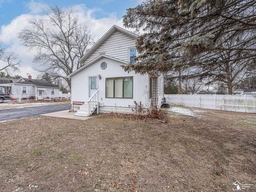
[[[36,115],[42,115],[46,113],[53,113],[57,111],[67,110],[70,104],[60,105],[47,105],[36,107],[24,107],[16,109],[4,109],[0,110],[0,122],[8,121],[11,119],[18,119],[23,117],[31,117]]]

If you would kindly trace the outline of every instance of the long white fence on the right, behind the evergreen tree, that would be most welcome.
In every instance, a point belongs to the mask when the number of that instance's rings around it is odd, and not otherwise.
[[[256,97],[251,95],[185,95],[165,94],[171,105],[256,113]]]

